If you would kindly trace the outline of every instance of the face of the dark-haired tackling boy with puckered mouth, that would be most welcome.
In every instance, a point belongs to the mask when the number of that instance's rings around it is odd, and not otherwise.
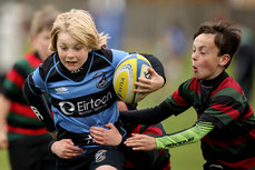
[[[214,39],[215,34],[202,33],[193,42],[193,72],[197,79],[212,80],[224,70],[224,57],[218,57]]]

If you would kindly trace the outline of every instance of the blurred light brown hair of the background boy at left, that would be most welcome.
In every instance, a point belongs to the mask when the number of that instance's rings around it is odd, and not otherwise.
[[[60,12],[56,10],[52,6],[45,6],[39,11],[36,11],[30,27],[31,36],[39,34],[42,30],[49,30],[53,26],[57,16]]]

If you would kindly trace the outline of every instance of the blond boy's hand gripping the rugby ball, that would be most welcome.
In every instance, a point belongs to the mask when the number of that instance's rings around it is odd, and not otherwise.
[[[150,72],[150,79],[138,78],[138,82],[135,82],[138,86],[138,89],[135,89],[134,92],[140,93],[139,98],[144,99],[149,93],[160,89],[164,84],[164,78],[160,77],[154,69],[148,68]]]

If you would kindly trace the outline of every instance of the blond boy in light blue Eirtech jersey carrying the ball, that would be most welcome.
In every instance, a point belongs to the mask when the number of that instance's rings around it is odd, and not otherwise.
[[[107,39],[98,33],[87,11],[59,14],[51,30],[50,49],[55,52],[24,82],[28,103],[52,136],[57,131],[50,150],[57,156],[58,170],[124,168],[119,147],[96,144],[89,132],[91,126],[110,122],[125,133],[118,122],[112,77],[117,63],[129,53],[107,49]],[[145,97],[164,86],[165,76],[159,60],[143,56],[154,68],[151,79],[140,83]],[[50,96],[53,119],[42,93]]]

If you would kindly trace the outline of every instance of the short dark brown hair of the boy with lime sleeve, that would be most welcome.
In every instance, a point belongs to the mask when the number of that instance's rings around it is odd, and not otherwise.
[[[217,23],[205,22],[198,28],[197,32],[194,34],[194,39],[202,33],[215,34],[214,43],[218,48],[218,56],[226,53],[231,56],[229,62],[225,66],[225,68],[227,68],[239,47],[241,30],[227,21]]]

